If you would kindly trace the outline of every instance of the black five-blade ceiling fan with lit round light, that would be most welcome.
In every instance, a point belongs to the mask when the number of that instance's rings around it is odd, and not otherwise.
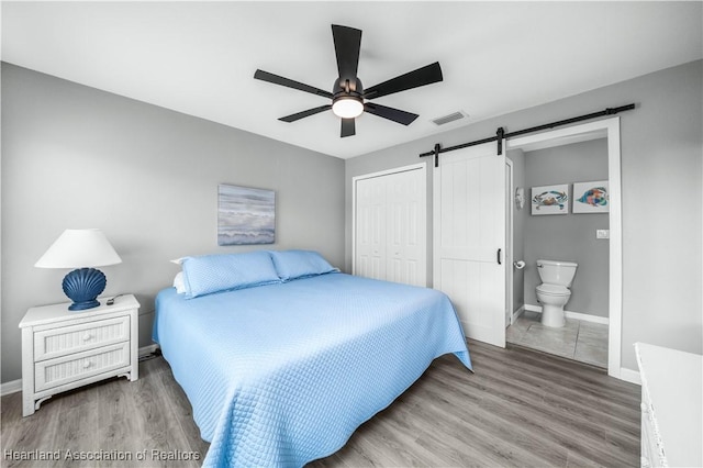
[[[410,125],[417,119],[417,114],[367,102],[367,100],[442,81],[442,68],[439,67],[439,63],[435,62],[432,65],[417,68],[416,70],[364,89],[361,80],[356,76],[359,65],[359,49],[361,47],[361,31],[333,24],[332,37],[337,57],[337,70],[339,71],[339,77],[334,81],[332,92],[264,70],[257,69],[254,74],[254,78],[256,79],[310,92],[332,100],[330,104],[286,115],[280,118],[280,121],[289,123],[295,122],[297,120],[332,109],[332,112],[342,119],[342,137],[352,136],[356,133],[354,119],[364,112],[392,120],[403,125]]]

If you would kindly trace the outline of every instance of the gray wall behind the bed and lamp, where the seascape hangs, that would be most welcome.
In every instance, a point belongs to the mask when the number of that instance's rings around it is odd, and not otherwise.
[[[21,378],[18,323],[64,302],[64,270],[34,263],[67,227],[100,227],[135,293],[140,345],[183,255],[314,248],[344,267],[344,161],[2,64],[2,382]],[[217,185],[276,191],[275,245],[217,247]]]

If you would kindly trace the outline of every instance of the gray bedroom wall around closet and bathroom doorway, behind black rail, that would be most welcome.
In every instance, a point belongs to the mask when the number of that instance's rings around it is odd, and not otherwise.
[[[637,109],[621,116],[622,367],[637,368],[635,342],[701,354],[702,101],[703,62],[696,60],[347,159],[346,265],[352,265],[354,176],[414,164],[435,143],[451,146],[495,135],[499,126],[516,131],[636,102]],[[427,189],[432,194],[431,176]]]

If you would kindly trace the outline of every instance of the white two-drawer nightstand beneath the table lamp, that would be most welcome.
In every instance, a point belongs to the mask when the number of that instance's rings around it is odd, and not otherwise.
[[[22,321],[22,415],[56,393],[110,377],[134,381],[138,368],[138,311],[134,296],[114,304],[69,311],[69,303],[30,309]]]

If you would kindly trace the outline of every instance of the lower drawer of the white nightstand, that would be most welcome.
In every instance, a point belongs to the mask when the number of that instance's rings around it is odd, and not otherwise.
[[[34,391],[51,389],[130,366],[130,342],[91,349],[34,365]]]

